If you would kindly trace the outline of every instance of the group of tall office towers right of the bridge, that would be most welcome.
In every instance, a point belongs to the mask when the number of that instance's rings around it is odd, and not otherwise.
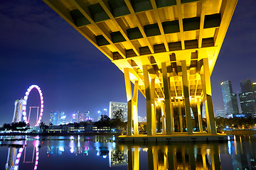
[[[233,93],[231,81],[221,83],[225,111],[217,108],[216,115],[223,118],[256,118],[256,82],[250,79],[240,81],[238,94],[242,113],[239,112],[237,94]]]

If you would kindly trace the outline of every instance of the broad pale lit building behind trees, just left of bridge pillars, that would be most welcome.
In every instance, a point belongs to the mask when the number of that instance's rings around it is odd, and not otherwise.
[[[124,116],[124,122],[127,121],[127,103],[110,101],[110,118],[114,118],[114,113],[122,110]]]

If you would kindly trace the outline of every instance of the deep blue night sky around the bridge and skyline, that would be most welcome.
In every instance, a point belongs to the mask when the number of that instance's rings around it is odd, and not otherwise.
[[[232,81],[236,94],[241,80],[256,81],[255,8],[255,0],[235,8],[211,76],[214,108],[224,108],[222,81]],[[43,92],[45,123],[50,111],[64,111],[68,121],[77,111],[96,118],[110,101],[126,102],[123,73],[43,1],[1,0],[0,23],[0,125],[11,123],[14,101],[32,84]],[[37,103],[33,90],[28,105]],[[139,115],[146,115],[141,94]]]

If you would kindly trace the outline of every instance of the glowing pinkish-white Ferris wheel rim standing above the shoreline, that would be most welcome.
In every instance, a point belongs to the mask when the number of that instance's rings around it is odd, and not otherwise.
[[[37,120],[36,120],[36,126],[38,126],[39,123],[41,122],[41,119],[42,119],[42,116],[43,116],[43,94],[42,94],[42,91],[41,91],[40,87],[37,86],[37,85],[30,86],[26,91],[26,94],[24,96],[24,101],[23,101],[23,120],[27,124],[29,123],[29,118],[27,119],[27,116],[26,116],[26,104],[27,104],[27,101],[28,101],[28,95],[30,94],[31,90],[34,89],[34,88],[38,90],[38,93],[39,93],[40,99],[41,99],[41,110],[40,110],[39,118],[37,118]]]

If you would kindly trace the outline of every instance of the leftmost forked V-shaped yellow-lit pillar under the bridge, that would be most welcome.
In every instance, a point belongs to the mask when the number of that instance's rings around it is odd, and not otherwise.
[[[138,129],[138,88],[139,81],[134,82],[134,94],[132,96],[129,68],[124,68],[124,80],[127,92],[127,135],[132,135],[132,119],[134,120],[134,135],[139,135]]]

